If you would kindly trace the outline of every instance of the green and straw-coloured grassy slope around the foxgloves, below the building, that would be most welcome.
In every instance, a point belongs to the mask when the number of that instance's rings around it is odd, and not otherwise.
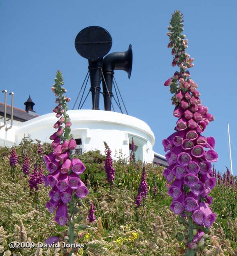
[[[50,152],[48,144],[42,147],[43,154]],[[44,244],[44,240],[53,235],[62,235],[67,242],[65,226],[59,226],[53,220],[54,214],[50,214],[45,207],[50,187],[41,184],[38,191],[30,191],[29,176],[22,171],[21,164],[24,156],[28,155],[32,172],[35,159],[39,161],[37,150],[37,144],[26,138],[16,147],[18,164],[10,166],[11,149],[0,149],[0,255],[67,255],[66,249],[62,248],[37,248],[39,242]],[[86,152],[80,159],[86,165],[81,179],[90,193],[78,201],[75,241],[84,243],[85,247],[76,250],[73,255],[182,255],[181,251],[178,252],[181,242],[176,239],[177,232],[182,232],[182,226],[169,208],[171,198],[167,194],[162,166],[143,164],[141,161],[127,164],[119,154],[114,161],[115,181],[109,193],[110,184],[106,183],[104,170],[105,156],[98,151]],[[42,165],[43,173],[47,175],[48,171]],[[143,166],[146,168],[148,194],[144,206],[142,203],[137,208],[134,201]],[[157,193],[153,191],[155,183]],[[217,220],[210,228],[209,247],[202,255],[237,255],[237,185],[216,185],[211,195],[214,198],[211,206]],[[96,206],[93,223],[87,220],[90,201]],[[10,242],[35,243],[35,248],[10,249]]]

